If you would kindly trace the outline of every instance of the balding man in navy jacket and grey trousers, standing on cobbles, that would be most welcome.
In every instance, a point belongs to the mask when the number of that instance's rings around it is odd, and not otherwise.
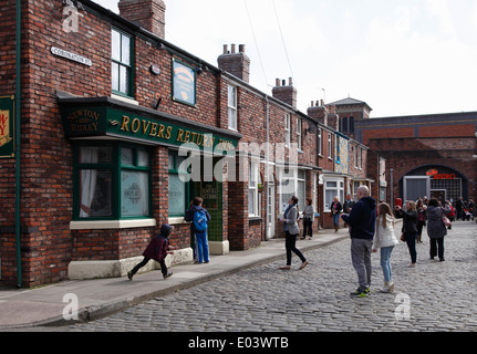
[[[370,293],[371,287],[371,252],[376,228],[376,200],[370,197],[370,189],[366,186],[361,186],[356,195],[359,201],[351,214],[343,215],[341,218],[350,226],[351,258],[360,283],[357,290],[351,295],[364,298]]]

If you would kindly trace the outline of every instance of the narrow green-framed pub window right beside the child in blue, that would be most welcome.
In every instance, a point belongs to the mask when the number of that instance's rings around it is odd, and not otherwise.
[[[187,209],[188,183],[183,181],[180,176],[188,173],[179,169],[185,159],[176,150],[169,150],[169,217],[173,218],[184,217]]]

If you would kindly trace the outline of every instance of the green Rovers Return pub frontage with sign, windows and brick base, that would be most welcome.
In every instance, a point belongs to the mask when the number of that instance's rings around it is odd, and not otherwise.
[[[184,216],[196,196],[212,217],[211,252],[228,251],[227,178],[210,171],[222,173],[239,134],[111,97],[58,101],[73,147],[71,279],[125,275],[162,223],[176,229],[172,243],[180,250],[172,263],[193,261]]]

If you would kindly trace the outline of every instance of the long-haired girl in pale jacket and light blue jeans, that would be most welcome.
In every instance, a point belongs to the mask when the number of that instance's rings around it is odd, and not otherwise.
[[[394,291],[394,283],[391,271],[391,254],[396,244],[397,238],[394,233],[394,217],[388,204],[377,206],[376,232],[374,236],[373,253],[381,249],[381,267],[384,273],[384,288],[381,292],[387,293]]]

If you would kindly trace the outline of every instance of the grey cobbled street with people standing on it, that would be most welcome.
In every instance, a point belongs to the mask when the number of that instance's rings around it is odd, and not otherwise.
[[[340,230],[340,232],[346,232]],[[408,268],[403,242],[394,249],[394,294],[383,294],[380,253],[373,254],[371,294],[350,298],[357,287],[350,240],[309,251],[310,266],[280,271],[283,262],[257,267],[146,302],[100,321],[60,331],[139,332],[477,332],[477,228],[455,222],[445,240],[445,262],[429,259],[426,230],[417,266]],[[284,254],[283,254],[284,259]]]

